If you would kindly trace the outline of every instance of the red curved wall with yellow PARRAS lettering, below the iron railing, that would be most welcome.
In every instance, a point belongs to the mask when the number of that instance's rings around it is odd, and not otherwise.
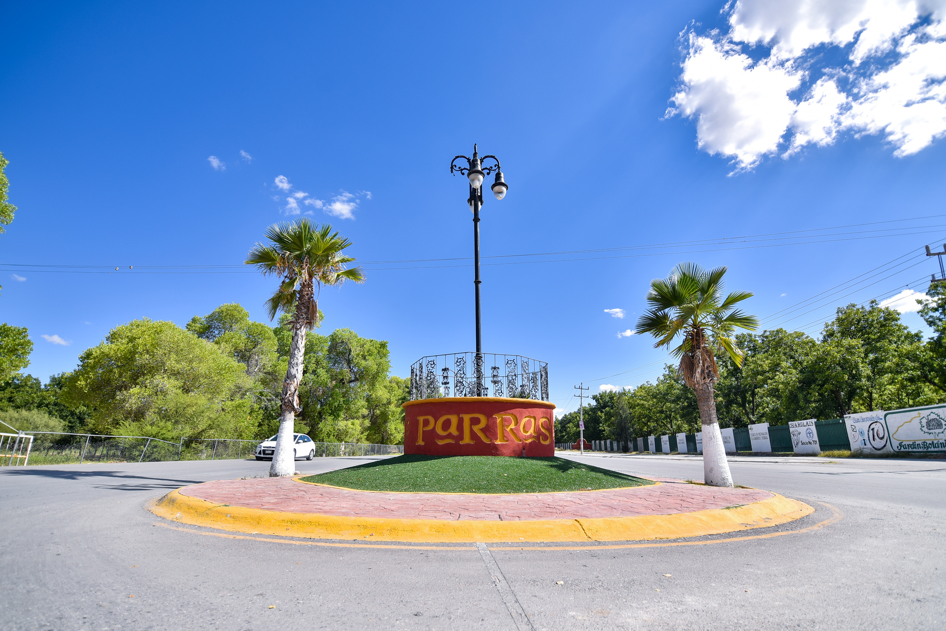
[[[404,452],[429,455],[555,454],[554,404],[500,397],[407,401]]]

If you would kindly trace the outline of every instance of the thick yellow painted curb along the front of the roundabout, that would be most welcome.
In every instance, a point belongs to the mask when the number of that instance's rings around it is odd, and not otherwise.
[[[806,503],[775,495],[762,502],[733,508],[674,515],[581,520],[393,520],[230,506],[189,497],[181,490],[167,493],[149,510],[167,520],[252,535],[362,541],[518,543],[675,539],[776,526],[815,512]]]

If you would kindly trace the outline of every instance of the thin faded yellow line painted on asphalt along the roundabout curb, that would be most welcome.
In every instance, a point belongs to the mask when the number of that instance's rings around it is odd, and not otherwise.
[[[503,546],[493,544],[492,550],[494,551],[526,551],[526,552],[555,552],[557,550],[622,550],[624,548],[667,548],[671,546],[705,546],[712,543],[730,543],[732,541],[747,541],[749,539],[767,539],[770,537],[782,537],[784,535],[801,535],[804,533],[811,533],[815,530],[821,530],[826,526],[830,526],[833,523],[844,519],[844,514],[841,513],[837,508],[832,506],[830,503],[818,502],[822,506],[830,508],[833,512],[832,517],[824,521],[819,521],[815,525],[808,526],[806,528],[799,528],[797,530],[788,530],[780,533],[766,533],[765,535],[751,535],[748,537],[727,537],[724,539],[711,539],[710,541],[671,541],[666,543],[625,543],[621,545],[604,545],[604,546],[558,546],[550,545],[545,547],[522,547],[522,546]],[[276,539],[270,537],[250,537],[248,535],[231,535],[229,533],[204,533],[200,530],[195,530],[193,528],[182,528],[180,526],[172,526],[167,523],[156,522],[153,525],[161,526],[162,528],[167,528],[169,530],[179,530],[184,533],[191,533],[193,535],[203,535],[206,537],[222,537],[225,539],[252,539],[254,541],[267,541],[269,543],[291,543],[298,546],[324,546],[328,548],[388,548],[388,549],[397,549],[397,550],[447,550],[447,551],[457,551],[457,550],[478,550],[477,545],[471,546],[412,546],[412,545],[396,545],[396,544],[381,544],[381,543],[330,543],[327,541],[296,541],[293,539]],[[479,544],[478,544],[479,545]]]

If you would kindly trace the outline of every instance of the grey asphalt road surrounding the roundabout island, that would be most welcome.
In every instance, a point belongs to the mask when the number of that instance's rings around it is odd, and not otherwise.
[[[297,469],[372,459],[300,461]],[[694,456],[584,460],[702,479]],[[700,545],[324,546],[219,537],[145,509],[169,489],[266,475],[268,467],[229,460],[0,469],[0,628],[946,628],[944,460],[734,458],[737,484],[817,508],[753,535],[828,520],[834,513],[823,503],[843,519]]]

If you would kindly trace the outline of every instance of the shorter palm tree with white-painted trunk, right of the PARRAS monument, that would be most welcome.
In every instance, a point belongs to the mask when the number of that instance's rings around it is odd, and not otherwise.
[[[751,298],[750,292],[732,292],[723,298],[726,269],[707,271],[695,263],[681,263],[666,279],[651,281],[650,309],[640,316],[637,328],[637,333],[657,338],[656,349],[669,348],[682,336],[672,352],[680,358],[684,381],[696,392],[703,425],[703,475],[710,486],[732,486],[713,399],[713,384],[719,379],[714,353],[725,351],[736,366],[742,366],[743,351],[736,348],[732,333],[736,327],[755,331],[759,326],[755,315],[734,306]]]

